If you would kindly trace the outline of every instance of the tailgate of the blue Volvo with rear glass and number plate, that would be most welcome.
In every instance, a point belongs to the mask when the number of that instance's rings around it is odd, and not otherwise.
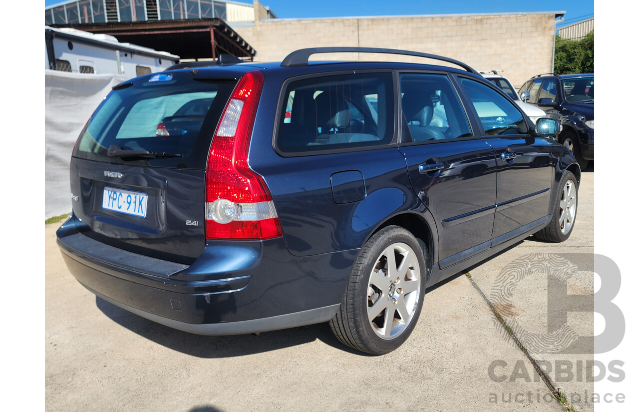
[[[205,243],[208,151],[235,84],[185,71],[116,86],[73,149],[73,213],[84,234],[192,263]]]

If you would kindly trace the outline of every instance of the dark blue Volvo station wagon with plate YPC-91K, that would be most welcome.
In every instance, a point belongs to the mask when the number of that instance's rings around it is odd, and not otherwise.
[[[326,52],[459,69],[309,62]],[[228,57],[123,82],[82,130],[58,245],[100,298],[202,335],[328,321],[383,354],[426,287],[570,236],[580,168],[558,122],[533,124],[464,63]]]

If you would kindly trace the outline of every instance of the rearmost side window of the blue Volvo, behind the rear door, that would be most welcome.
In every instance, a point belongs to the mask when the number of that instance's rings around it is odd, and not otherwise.
[[[392,74],[361,73],[291,82],[276,146],[284,153],[362,148],[393,137]]]

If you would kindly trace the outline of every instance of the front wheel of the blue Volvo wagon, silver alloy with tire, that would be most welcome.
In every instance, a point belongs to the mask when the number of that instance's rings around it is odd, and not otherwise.
[[[577,192],[577,179],[574,174],[570,171],[564,172],[553,209],[553,217],[548,226],[535,233],[536,238],[557,243],[570,237],[577,217]]]

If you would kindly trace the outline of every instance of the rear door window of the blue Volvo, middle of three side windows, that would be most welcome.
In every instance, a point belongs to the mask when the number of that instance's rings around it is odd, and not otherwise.
[[[447,75],[399,75],[401,107],[413,142],[470,137],[468,119]]]

